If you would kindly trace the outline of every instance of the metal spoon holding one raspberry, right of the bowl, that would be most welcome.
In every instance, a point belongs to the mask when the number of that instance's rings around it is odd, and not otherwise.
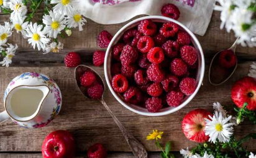
[[[237,40],[235,40],[231,48],[227,50],[232,50],[235,54],[235,48],[237,47],[238,40],[239,37],[237,38]],[[237,63],[235,63],[235,66],[231,69],[224,69],[219,66],[218,59],[222,51],[224,50],[221,50],[217,52],[216,55],[214,55],[209,68],[209,82],[214,86],[218,86],[226,82],[232,76],[232,74],[234,74],[235,69],[237,69]]]

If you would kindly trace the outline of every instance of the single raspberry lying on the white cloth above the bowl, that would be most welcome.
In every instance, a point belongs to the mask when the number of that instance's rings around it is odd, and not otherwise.
[[[174,4],[165,4],[161,9],[162,15],[165,17],[170,17],[171,19],[179,19],[180,10]]]

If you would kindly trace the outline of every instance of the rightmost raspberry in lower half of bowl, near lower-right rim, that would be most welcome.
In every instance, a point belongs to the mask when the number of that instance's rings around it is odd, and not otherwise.
[[[190,77],[183,78],[180,82],[180,90],[185,95],[193,94],[196,90],[196,81]]]

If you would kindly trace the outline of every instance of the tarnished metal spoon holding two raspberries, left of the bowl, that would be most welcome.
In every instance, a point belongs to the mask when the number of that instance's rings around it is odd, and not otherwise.
[[[93,71],[96,74],[96,78],[97,78],[96,80],[101,85],[103,85],[104,90],[106,89],[103,79],[101,78],[101,76],[99,76],[98,72],[94,71],[94,69],[90,68],[89,66],[85,66],[85,65],[77,66],[75,69],[76,84],[79,87],[81,93],[85,95],[85,97],[89,98],[86,92],[86,88],[81,86],[80,84],[80,76],[82,76],[85,71]],[[147,150],[145,149],[145,147],[142,144],[140,144],[140,142],[137,139],[135,139],[134,136],[132,136],[127,132],[126,128],[124,128],[124,126],[116,118],[114,113],[111,112],[110,108],[107,106],[106,102],[104,101],[103,96],[101,97],[101,99],[99,99],[99,101],[104,105],[104,107],[107,109],[107,112],[109,112],[109,114],[112,116],[112,118],[116,122],[116,125],[122,131],[122,134],[124,135],[124,138],[126,139],[130,149],[132,149],[132,153],[134,154],[134,156],[137,158],[147,158]]]

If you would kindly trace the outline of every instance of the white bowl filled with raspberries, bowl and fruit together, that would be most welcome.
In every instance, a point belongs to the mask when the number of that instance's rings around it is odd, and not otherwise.
[[[201,45],[185,25],[147,16],[129,22],[112,38],[104,74],[124,107],[140,115],[162,116],[194,98],[204,66]]]

